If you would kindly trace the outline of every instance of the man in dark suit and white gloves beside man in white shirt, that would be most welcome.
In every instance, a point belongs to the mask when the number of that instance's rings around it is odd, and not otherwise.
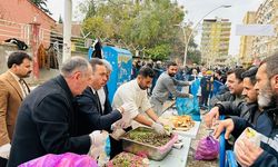
[[[92,67],[91,84],[81,96],[77,97],[80,135],[88,134],[92,130],[110,131],[111,125],[121,119],[123,111],[128,112],[129,110],[128,104],[112,110],[108,99],[107,88],[105,88],[108,81],[108,72],[103,60],[92,58],[90,65]],[[101,105],[98,94],[98,90],[101,88],[105,89],[103,105]]]

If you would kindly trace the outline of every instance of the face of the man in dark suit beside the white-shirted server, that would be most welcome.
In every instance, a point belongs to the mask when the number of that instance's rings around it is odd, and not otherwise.
[[[101,87],[106,86],[108,81],[108,76],[107,76],[107,68],[106,66],[96,66],[96,70],[92,72],[92,81],[91,81],[91,87],[95,90],[99,90]]]

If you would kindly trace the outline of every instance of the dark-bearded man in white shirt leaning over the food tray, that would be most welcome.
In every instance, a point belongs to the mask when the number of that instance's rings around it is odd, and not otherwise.
[[[163,125],[167,122],[158,119],[158,116],[151,109],[151,105],[147,96],[147,89],[150,88],[153,76],[155,72],[151,68],[147,66],[142,67],[136,79],[121,85],[117,89],[112,102],[113,108],[119,108],[126,102],[131,102],[133,105],[130,115],[123,115],[122,119],[116,122],[117,128],[120,126],[123,130],[129,130],[131,129],[131,120],[136,120],[139,124],[153,128],[159,134],[165,134]],[[145,114],[147,114],[151,120],[148,119]],[[115,130],[113,134],[117,134],[115,135],[115,138],[117,139],[117,136],[123,134],[123,130],[120,130],[119,128]],[[113,141],[111,140],[111,143]],[[118,146],[118,150],[121,151],[121,145],[119,144]]]

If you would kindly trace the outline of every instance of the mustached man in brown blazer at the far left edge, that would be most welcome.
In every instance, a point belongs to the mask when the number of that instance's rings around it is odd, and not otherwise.
[[[31,61],[23,51],[12,52],[7,62],[9,70],[0,76],[0,166],[8,161],[18,109],[30,92],[23,78],[32,71]]]

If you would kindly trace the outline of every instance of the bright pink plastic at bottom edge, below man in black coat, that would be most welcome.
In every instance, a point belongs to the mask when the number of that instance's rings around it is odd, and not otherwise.
[[[48,154],[29,160],[19,167],[98,167],[97,161],[87,155],[66,153],[62,155]]]

